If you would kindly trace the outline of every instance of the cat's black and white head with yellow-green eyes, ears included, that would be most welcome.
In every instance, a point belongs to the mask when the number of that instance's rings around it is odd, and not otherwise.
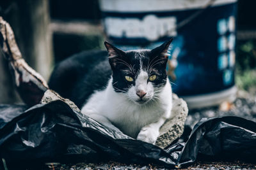
[[[166,84],[166,63],[170,41],[153,50],[124,52],[105,42],[113,71],[113,88],[129,101],[145,104],[157,99]]]

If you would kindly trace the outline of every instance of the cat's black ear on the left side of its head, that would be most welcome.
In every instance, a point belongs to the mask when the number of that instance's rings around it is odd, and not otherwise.
[[[118,58],[124,59],[125,52],[111,45],[110,43],[108,43],[108,41],[105,41],[104,45],[108,50],[109,63],[111,64],[112,67],[115,67],[118,62]]]

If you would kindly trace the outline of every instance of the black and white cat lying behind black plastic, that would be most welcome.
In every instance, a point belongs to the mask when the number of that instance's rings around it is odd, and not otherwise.
[[[64,60],[54,69],[49,86],[74,101],[84,115],[154,144],[172,114],[166,75],[171,42],[127,52],[105,42],[108,59],[106,53],[94,52]]]

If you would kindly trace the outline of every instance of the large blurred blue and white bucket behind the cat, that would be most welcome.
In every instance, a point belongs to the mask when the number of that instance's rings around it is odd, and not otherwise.
[[[234,101],[237,0],[101,0],[108,39],[124,50],[174,37],[168,75],[189,108]]]

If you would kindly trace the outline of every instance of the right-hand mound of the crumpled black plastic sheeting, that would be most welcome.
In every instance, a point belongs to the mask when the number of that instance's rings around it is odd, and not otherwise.
[[[172,153],[172,150],[167,152]],[[188,166],[197,157],[200,160],[243,160],[256,163],[255,153],[256,122],[241,117],[202,118],[182,148],[178,164]]]

